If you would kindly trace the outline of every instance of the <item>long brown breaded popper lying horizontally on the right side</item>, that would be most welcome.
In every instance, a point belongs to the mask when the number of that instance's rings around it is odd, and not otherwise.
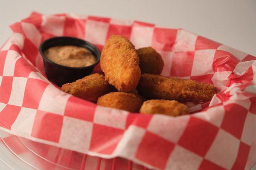
[[[169,99],[178,102],[206,102],[217,93],[217,89],[211,84],[153,74],[142,74],[137,90],[148,99]]]

